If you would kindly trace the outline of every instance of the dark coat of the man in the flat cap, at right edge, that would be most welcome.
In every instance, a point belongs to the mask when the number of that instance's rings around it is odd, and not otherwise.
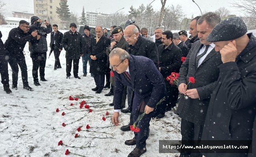
[[[236,62],[219,66],[218,84],[212,94],[203,129],[204,140],[256,138],[256,130],[253,129],[256,115],[256,38],[252,33],[248,36],[250,41],[236,57]],[[253,146],[255,151],[255,143]],[[210,157],[211,154],[205,156]],[[223,156],[247,157],[241,154]]]

